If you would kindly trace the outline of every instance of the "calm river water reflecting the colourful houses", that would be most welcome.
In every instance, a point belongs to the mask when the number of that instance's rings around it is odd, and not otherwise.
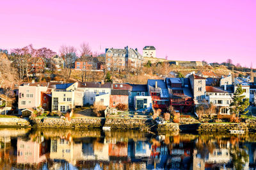
[[[256,135],[0,129],[0,169],[255,169]]]

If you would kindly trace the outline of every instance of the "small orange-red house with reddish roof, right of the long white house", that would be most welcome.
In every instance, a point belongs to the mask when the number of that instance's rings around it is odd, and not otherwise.
[[[125,104],[125,106],[128,108],[128,95],[128,90],[111,90],[109,107],[116,108],[118,104]]]

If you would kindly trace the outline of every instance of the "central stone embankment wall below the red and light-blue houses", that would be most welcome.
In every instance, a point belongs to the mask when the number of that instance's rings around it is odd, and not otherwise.
[[[152,126],[151,118],[106,118],[106,127],[111,129],[142,129]]]

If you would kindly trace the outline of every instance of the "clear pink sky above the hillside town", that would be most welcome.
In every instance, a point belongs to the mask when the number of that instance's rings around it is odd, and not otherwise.
[[[255,0],[1,1],[0,48],[153,45],[159,58],[256,67],[255,9]]]

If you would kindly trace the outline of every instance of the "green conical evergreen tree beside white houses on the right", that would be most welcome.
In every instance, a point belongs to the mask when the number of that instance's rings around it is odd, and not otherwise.
[[[243,95],[244,90],[242,89],[242,86],[239,85],[236,89],[236,92],[234,93],[234,97],[232,97],[233,102],[230,104],[231,110],[233,113],[236,113],[236,117],[238,117],[239,114],[246,114],[248,113],[246,108],[250,105],[249,99],[244,99],[245,96]]]

